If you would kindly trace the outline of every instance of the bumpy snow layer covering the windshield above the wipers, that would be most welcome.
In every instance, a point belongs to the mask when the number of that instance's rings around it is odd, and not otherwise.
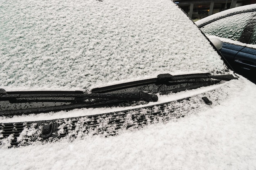
[[[7,91],[227,71],[171,0],[4,1],[0,34],[0,87]]]

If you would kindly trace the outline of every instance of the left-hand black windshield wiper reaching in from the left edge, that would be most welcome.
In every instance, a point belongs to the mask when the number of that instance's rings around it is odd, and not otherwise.
[[[0,115],[20,115],[74,108],[95,108],[122,102],[157,102],[157,95],[144,92],[85,94],[83,91],[18,91],[0,89]]]

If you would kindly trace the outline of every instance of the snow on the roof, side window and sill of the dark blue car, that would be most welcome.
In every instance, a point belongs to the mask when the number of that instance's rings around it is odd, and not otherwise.
[[[253,11],[253,12],[250,12]],[[236,44],[239,46],[246,46],[248,48],[256,49],[256,28],[252,30],[251,42],[249,44],[245,44],[240,42],[239,38],[242,33],[242,30],[245,26],[251,22],[251,20],[255,19],[256,13],[256,4],[245,5],[241,7],[236,7],[232,9],[228,9],[225,11],[221,11],[219,13],[210,15],[206,18],[198,20],[195,22],[199,27],[201,25],[211,22],[205,26],[202,26],[202,31],[207,34],[207,36],[217,36],[216,38],[220,39],[222,42]],[[235,15],[232,15],[235,14]],[[231,16],[229,16],[231,15]],[[225,18],[227,16],[227,18]],[[218,18],[222,18],[218,20]],[[249,20],[250,19],[250,20]],[[214,21],[216,20],[216,21]]]

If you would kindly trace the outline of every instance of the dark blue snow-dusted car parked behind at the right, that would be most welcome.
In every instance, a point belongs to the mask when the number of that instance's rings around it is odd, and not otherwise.
[[[220,53],[235,72],[256,83],[256,4],[215,13],[195,24],[222,41]]]

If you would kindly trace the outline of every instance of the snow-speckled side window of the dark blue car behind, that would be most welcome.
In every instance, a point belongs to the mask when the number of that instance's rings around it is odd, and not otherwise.
[[[240,41],[243,30],[247,26],[253,13],[240,13],[211,22],[202,27],[205,34],[216,35],[221,38],[229,38]],[[241,19],[242,18],[242,19]]]

